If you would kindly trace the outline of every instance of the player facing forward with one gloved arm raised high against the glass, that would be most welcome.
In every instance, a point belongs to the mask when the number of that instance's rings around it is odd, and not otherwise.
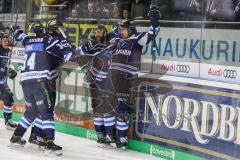
[[[131,106],[130,88],[132,80],[137,77],[140,69],[143,45],[155,38],[159,29],[159,8],[150,9],[151,27],[148,32],[137,32],[130,20],[122,21],[119,25],[119,36],[115,39],[116,49],[111,63],[111,79],[116,91],[119,105],[116,109],[117,136],[120,147],[126,149],[128,144],[127,130],[129,127],[128,109]],[[155,31],[155,34],[153,34]]]

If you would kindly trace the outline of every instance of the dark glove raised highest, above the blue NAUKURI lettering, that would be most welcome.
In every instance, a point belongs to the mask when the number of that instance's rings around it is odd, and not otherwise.
[[[151,25],[154,28],[159,27],[159,22],[158,21],[159,21],[159,19],[161,17],[159,6],[151,4],[149,12],[148,12],[148,17],[149,17],[149,19],[151,21]]]

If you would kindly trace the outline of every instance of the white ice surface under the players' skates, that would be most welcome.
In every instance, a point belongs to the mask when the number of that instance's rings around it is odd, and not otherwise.
[[[28,139],[29,131],[24,136],[25,139]],[[13,131],[6,130],[3,120],[0,119],[0,160],[159,160],[132,150],[99,148],[95,141],[63,133],[56,133],[55,141],[63,147],[63,155],[49,157],[37,148],[28,149],[28,144],[24,148],[8,147],[12,133]]]

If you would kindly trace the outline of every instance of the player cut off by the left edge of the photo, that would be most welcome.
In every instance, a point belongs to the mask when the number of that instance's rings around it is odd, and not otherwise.
[[[3,116],[5,125],[8,129],[14,129],[17,127],[17,124],[12,121],[14,100],[13,93],[7,84],[7,78],[14,79],[17,72],[8,66],[11,42],[6,32],[0,33],[0,43],[0,99],[4,102]]]

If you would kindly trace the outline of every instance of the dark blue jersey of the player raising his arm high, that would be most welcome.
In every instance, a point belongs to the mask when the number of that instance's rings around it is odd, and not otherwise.
[[[156,28],[159,31],[159,28]],[[150,27],[148,32],[139,32],[133,34],[127,39],[116,37],[113,44],[111,70],[135,74],[141,66],[141,55],[143,46],[154,39],[153,28]]]

